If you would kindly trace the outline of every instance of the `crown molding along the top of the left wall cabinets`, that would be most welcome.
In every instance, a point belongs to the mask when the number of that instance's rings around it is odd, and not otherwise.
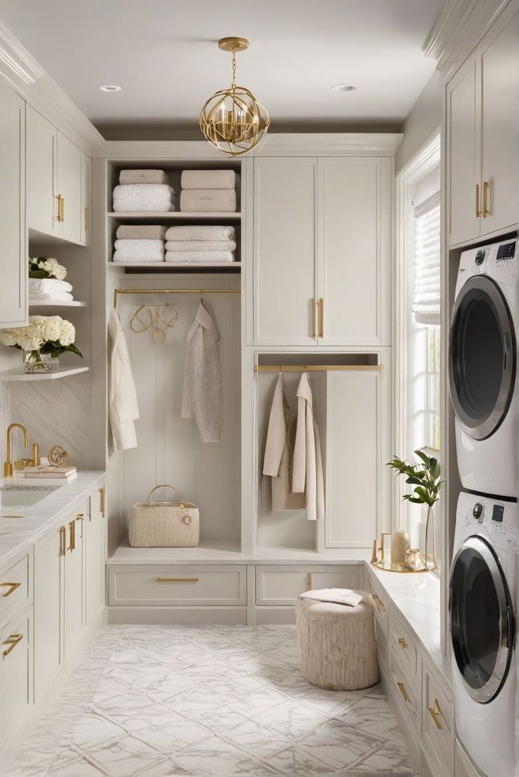
[[[103,135],[1,21],[0,78],[85,153],[103,148]]]

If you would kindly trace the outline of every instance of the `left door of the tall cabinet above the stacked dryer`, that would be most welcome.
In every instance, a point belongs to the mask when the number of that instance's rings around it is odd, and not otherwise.
[[[475,54],[468,57],[448,83],[447,127],[449,245],[455,246],[479,237],[475,198],[479,183]]]

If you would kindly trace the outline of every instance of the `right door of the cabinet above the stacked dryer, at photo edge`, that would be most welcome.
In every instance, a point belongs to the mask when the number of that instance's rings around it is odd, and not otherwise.
[[[481,234],[517,224],[519,14],[498,20],[478,47],[482,84],[481,179],[489,213]]]

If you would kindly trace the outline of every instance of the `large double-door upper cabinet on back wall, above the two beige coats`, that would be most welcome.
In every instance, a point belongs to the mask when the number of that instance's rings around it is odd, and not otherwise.
[[[389,344],[391,182],[391,159],[255,160],[256,345]]]

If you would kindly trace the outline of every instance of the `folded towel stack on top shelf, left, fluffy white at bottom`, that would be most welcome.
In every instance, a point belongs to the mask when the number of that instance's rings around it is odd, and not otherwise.
[[[175,190],[164,170],[121,170],[113,190],[116,213],[174,211]]]

